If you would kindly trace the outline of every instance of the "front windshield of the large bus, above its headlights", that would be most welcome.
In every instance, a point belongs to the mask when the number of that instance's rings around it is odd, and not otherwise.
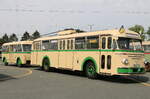
[[[119,49],[143,50],[141,40],[120,37],[117,41]]]

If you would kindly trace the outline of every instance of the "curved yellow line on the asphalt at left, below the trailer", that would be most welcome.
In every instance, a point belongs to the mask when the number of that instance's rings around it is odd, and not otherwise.
[[[22,78],[22,77],[25,77],[25,76],[28,76],[28,75],[31,75],[32,74],[32,70],[30,69],[21,69],[21,68],[0,68],[0,70],[22,70],[22,71],[26,71],[26,73],[24,74],[19,74],[19,75],[14,75],[14,76],[11,76],[11,77],[5,77],[5,78],[2,78],[0,79],[0,81],[3,81],[3,80],[9,80],[9,79],[15,79],[15,78]]]

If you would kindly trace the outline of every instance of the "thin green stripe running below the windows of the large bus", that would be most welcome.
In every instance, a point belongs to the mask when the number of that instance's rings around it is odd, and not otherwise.
[[[33,50],[32,52],[78,52],[78,51],[99,51],[99,52],[135,52],[135,53],[144,53],[144,51],[131,51],[131,50]]]

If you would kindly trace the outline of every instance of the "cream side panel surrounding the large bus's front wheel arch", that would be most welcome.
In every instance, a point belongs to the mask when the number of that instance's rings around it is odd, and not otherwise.
[[[88,59],[88,58],[92,58],[94,59],[94,61],[96,62],[96,68],[97,68],[97,72],[99,73],[99,64],[100,64],[100,54],[97,51],[78,51],[75,52],[74,54],[74,70],[82,70],[82,65],[84,64],[84,60]]]

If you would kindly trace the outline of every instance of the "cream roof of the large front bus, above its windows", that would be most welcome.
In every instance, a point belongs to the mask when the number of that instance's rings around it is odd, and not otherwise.
[[[118,29],[114,30],[103,30],[103,31],[93,31],[93,32],[82,32],[82,33],[72,33],[68,35],[56,35],[56,36],[49,36],[49,37],[41,37],[35,39],[34,41],[41,41],[41,40],[49,40],[49,39],[63,39],[63,38],[73,38],[73,37],[85,37],[85,36],[96,36],[96,35],[112,35],[116,37],[128,37],[128,38],[136,38],[141,39],[140,35],[136,32],[125,30],[124,33],[119,32]]]

